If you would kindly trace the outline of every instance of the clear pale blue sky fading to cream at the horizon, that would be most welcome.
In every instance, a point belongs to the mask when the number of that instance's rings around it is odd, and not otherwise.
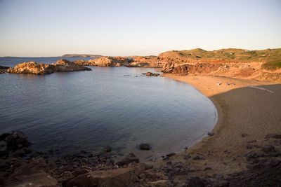
[[[0,0],[0,56],[281,48],[281,0]]]

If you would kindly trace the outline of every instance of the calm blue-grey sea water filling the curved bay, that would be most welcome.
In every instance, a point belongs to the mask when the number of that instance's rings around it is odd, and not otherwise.
[[[58,59],[2,57],[0,65]],[[214,104],[191,85],[141,75],[156,69],[91,69],[46,76],[0,74],[0,133],[22,130],[33,151],[59,149],[63,154],[110,145],[117,155],[133,152],[149,160],[182,151],[216,123]],[[138,150],[141,143],[152,150]]]

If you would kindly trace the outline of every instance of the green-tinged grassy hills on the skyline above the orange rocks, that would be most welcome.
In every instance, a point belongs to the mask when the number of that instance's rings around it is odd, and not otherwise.
[[[211,58],[216,60],[247,60],[249,62],[270,62],[281,59],[281,48],[266,50],[221,49],[207,51],[200,48],[193,50],[171,50],[160,53],[158,57],[186,57],[192,59]]]

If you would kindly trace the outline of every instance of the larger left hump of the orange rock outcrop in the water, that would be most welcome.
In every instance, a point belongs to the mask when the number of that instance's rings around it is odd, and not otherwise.
[[[7,73],[11,74],[51,74],[53,73],[53,65],[43,64],[37,62],[23,62],[22,64],[16,65],[14,68],[7,69]]]

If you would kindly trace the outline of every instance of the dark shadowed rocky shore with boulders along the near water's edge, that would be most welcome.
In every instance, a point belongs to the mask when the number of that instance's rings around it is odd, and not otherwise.
[[[228,175],[209,175],[213,169],[208,165],[209,155],[190,154],[188,149],[181,159],[175,160],[176,153],[170,153],[152,165],[139,162],[133,153],[115,162],[107,151],[80,151],[47,158],[43,153],[24,151],[30,142],[23,132],[13,131],[0,137],[6,142],[6,152],[0,157],[1,186],[278,186],[281,183],[281,134],[277,133],[267,134],[261,144],[255,140],[248,142],[255,148],[244,155],[246,168]],[[147,144],[140,146],[149,148]],[[204,167],[197,162],[205,162]]]

